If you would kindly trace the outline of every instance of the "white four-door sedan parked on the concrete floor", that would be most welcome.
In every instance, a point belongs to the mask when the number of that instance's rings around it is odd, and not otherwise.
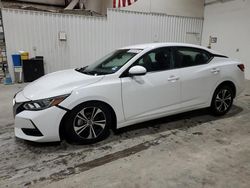
[[[87,67],[45,75],[17,93],[15,135],[90,144],[110,129],[190,110],[224,115],[244,80],[243,64],[201,46],[129,46]]]

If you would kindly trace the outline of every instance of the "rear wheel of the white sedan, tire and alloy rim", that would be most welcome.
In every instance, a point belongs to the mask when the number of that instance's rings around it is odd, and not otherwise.
[[[214,92],[210,110],[215,116],[225,115],[233,104],[233,89],[224,85],[217,88]]]

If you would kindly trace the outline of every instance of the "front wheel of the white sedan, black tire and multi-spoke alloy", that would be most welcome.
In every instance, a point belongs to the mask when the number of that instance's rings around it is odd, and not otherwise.
[[[74,108],[65,124],[68,142],[93,144],[109,135],[111,113],[105,104],[87,102]]]

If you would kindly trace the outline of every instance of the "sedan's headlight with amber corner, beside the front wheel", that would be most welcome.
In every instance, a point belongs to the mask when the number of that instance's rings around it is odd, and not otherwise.
[[[61,95],[57,97],[41,99],[36,101],[30,101],[23,105],[25,110],[43,110],[52,106],[56,106],[60,104],[64,99],[66,99],[69,95]]]

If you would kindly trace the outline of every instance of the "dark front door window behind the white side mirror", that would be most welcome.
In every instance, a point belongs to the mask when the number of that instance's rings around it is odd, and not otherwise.
[[[171,68],[171,56],[170,48],[160,48],[143,55],[134,65],[145,67],[147,72],[167,70]]]

